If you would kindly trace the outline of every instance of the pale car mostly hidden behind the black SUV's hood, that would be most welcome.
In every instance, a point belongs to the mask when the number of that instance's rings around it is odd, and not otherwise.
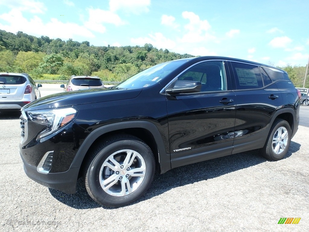
[[[87,90],[96,88],[105,88],[101,79],[98,76],[75,76],[72,75],[66,87],[64,84],[60,86],[65,88],[67,92],[75,90]]]

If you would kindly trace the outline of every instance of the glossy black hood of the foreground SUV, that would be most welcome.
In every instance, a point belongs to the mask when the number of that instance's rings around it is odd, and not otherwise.
[[[41,97],[23,107],[24,110],[42,110],[63,106],[82,105],[106,101],[117,101],[137,97],[142,88],[137,89],[90,89],[51,94]]]

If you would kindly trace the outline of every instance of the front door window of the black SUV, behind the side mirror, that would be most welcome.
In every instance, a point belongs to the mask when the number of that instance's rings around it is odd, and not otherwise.
[[[222,61],[198,63],[182,73],[178,80],[201,82],[201,92],[226,90],[226,78]]]

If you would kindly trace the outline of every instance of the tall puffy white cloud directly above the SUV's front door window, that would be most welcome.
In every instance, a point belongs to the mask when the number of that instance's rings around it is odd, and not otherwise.
[[[184,11],[182,12],[184,19],[189,19],[189,23],[184,25],[187,33],[181,39],[184,43],[197,43],[214,41],[215,36],[211,35],[208,31],[211,26],[207,20],[201,20],[200,17],[193,12]]]

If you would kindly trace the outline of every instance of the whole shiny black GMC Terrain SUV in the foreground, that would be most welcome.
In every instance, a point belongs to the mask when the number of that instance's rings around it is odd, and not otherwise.
[[[300,92],[287,73],[226,57],[158,64],[106,89],[40,98],[22,109],[26,174],[100,204],[140,198],[155,171],[260,149],[279,160],[298,129]]]

